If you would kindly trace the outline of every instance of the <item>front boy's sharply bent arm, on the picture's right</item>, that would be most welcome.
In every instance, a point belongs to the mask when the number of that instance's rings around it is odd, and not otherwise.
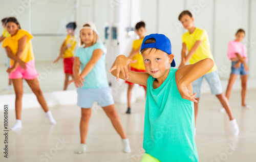
[[[197,102],[194,95],[189,95],[191,90],[187,89],[187,86],[202,77],[211,70],[214,66],[214,61],[210,58],[203,59],[197,63],[185,65],[176,72],[176,84],[183,99]]]

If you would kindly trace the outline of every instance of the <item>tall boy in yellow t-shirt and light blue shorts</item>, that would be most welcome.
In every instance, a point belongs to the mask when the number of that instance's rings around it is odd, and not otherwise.
[[[205,58],[211,58],[212,60],[214,60],[214,57],[210,52],[210,43],[207,32],[204,29],[195,27],[194,17],[192,16],[192,14],[188,10],[185,10],[181,12],[181,14],[179,15],[179,20],[181,21],[183,27],[188,30],[188,32],[182,35],[181,64],[179,68],[184,66],[187,61],[189,61],[189,64],[194,64]],[[222,106],[225,108],[230,120],[232,134],[234,136],[237,136],[239,134],[238,124],[236,119],[234,119],[233,117],[228,100],[223,94],[221,81],[218,76],[216,65],[214,65],[214,67],[212,67],[207,74],[203,75],[202,77],[198,78],[192,83],[193,90],[195,93],[197,93],[196,100],[198,101],[197,103],[194,102],[195,126],[198,114],[198,103],[200,99],[200,88],[203,78],[207,80],[211,89],[211,94],[216,95],[216,97],[221,102]]]

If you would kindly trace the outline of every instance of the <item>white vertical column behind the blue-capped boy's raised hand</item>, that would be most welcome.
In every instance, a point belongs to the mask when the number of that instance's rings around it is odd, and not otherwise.
[[[126,35],[126,28],[130,26],[134,27],[136,22],[140,20],[140,1],[138,0],[110,0],[110,38],[108,45],[108,58],[107,70],[110,69],[112,63],[118,55],[128,56],[132,50],[132,42]],[[131,7],[131,8],[130,8]],[[118,27],[118,42],[112,39],[112,27],[117,25]],[[112,75],[108,75],[109,82],[111,83],[114,100],[117,103],[127,102],[127,84],[123,80],[116,81],[116,78]],[[136,88],[136,87],[135,87]],[[135,91],[136,89],[134,89]],[[141,94],[141,92],[139,92]],[[143,92],[144,96],[144,92]],[[136,100],[135,94],[132,95],[132,102]]]

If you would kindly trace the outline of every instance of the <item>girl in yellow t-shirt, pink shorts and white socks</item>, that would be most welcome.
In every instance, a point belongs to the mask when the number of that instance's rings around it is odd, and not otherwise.
[[[16,123],[10,129],[15,130],[22,128],[21,113],[22,113],[22,96],[23,96],[23,79],[25,79],[31,90],[37,97],[42,109],[46,112],[46,118],[51,124],[56,124],[49,110],[42,91],[37,80],[39,75],[35,70],[34,54],[32,50],[31,40],[33,36],[26,30],[20,29],[19,23],[15,17],[9,17],[6,22],[6,28],[11,34],[5,38],[3,48],[5,48],[7,56],[11,58],[10,68],[7,72],[10,73],[9,78],[13,80],[15,90],[15,112]]]

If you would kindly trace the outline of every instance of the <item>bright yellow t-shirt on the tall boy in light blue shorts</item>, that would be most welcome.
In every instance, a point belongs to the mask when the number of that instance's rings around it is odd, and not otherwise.
[[[202,40],[202,43],[197,51],[193,54],[193,56],[189,59],[189,64],[196,63],[205,58],[211,58],[212,60],[214,60],[214,57],[210,52],[210,42],[208,34],[205,30],[196,28],[193,33],[189,34],[189,32],[186,32],[182,35],[182,43],[186,43],[188,51],[191,50],[197,40]],[[214,67],[211,68],[208,73],[211,73],[215,70],[217,70],[216,64],[214,65]]]

